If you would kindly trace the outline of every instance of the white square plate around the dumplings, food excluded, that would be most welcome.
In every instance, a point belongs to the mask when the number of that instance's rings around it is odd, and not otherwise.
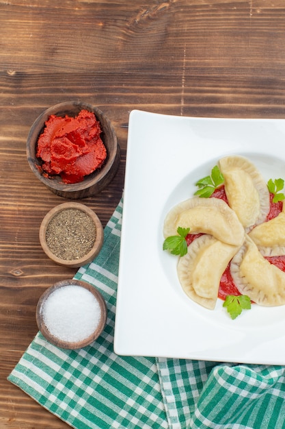
[[[285,121],[172,117],[133,110],[129,118],[114,350],[285,365],[285,306],[254,305],[230,319],[218,299],[207,310],[182,291],[177,257],[163,252],[163,221],[193,196],[219,158],[242,155],[264,180],[285,179]]]

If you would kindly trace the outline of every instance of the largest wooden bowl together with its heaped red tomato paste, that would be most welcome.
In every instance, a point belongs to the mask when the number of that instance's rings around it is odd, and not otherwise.
[[[92,114],[93,128],[89,125]],[[81,199],[99,193],[111,182],[120,163],[120,146],[100,109],[68,101],[44,110],[31,125],[27,160],[50,191]]]

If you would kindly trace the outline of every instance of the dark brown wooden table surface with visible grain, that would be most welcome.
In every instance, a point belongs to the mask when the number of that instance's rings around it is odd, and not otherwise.
[[[122,195],[131,110],[285,117],[285,2],[0,0],[0,28],[0,428],[63,429],[6,380],[37,332],[38,298],[77,271],[40,247],[42,218],[66,200],[29,169],[29,127],[62,101],[107,114],[120,168],[104,191],[81,200],[105,225]]]

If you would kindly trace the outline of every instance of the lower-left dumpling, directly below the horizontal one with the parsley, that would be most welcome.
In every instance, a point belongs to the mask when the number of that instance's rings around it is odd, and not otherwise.
[[[221,275],[238,249],[206,234],[196,238],[188,246],[187,254],[178,261],[178,278],[185,293],[213,310]]]

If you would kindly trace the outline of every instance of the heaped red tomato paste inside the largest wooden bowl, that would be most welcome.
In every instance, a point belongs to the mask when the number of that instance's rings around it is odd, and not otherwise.
[[[60,175],[64,183],[78,183],[100,169],[107,157],[101,132],[93,112],[81,110],[74,118],[52,114],[38,138],[36,157],[42,160],[42,175]]]

